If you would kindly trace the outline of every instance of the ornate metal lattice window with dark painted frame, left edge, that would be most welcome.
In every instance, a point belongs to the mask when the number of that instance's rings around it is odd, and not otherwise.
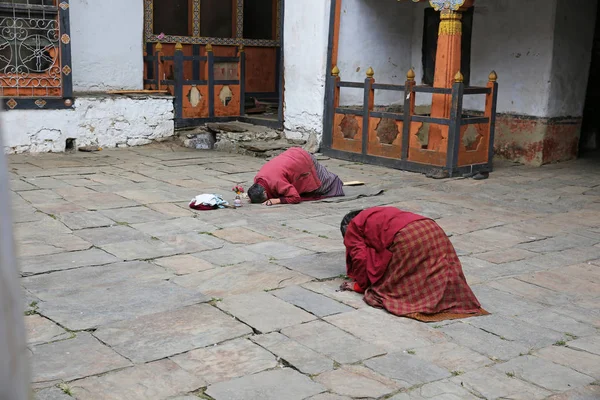
[[[68,0],[0,0],[0,96],[6,108],[71,107]]]

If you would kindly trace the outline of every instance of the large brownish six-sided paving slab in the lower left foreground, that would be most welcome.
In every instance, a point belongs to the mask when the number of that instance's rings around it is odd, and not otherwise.
[[[201,304],[103,326],[94,336],[131,361],[142,363],[251,333],[248,326]]]

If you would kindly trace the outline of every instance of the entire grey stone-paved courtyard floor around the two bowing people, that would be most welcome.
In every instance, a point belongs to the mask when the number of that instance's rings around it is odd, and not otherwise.
[[[232,200],[263,161],[9,161],[38,400],[600,398],[600,161],[434,181],[330,159],[385,194],[210,212],[187,204]],[[424,324],[336,291],[342,216],[382,204],[437,220],[490,316]]]

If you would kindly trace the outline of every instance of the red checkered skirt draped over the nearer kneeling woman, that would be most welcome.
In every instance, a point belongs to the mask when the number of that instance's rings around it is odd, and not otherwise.
[[[369,305],[422,321],[487,314],[467,284],[452,243],[434,221],[408,224],[390,251],[384,276],[365,292]]]

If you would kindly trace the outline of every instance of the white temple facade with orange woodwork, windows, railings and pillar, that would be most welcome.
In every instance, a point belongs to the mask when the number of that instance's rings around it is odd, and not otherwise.
[[[597,13],[596,0],[0,2],[5,151],[241,120],[383,164],[569,160],[600,130]]]

